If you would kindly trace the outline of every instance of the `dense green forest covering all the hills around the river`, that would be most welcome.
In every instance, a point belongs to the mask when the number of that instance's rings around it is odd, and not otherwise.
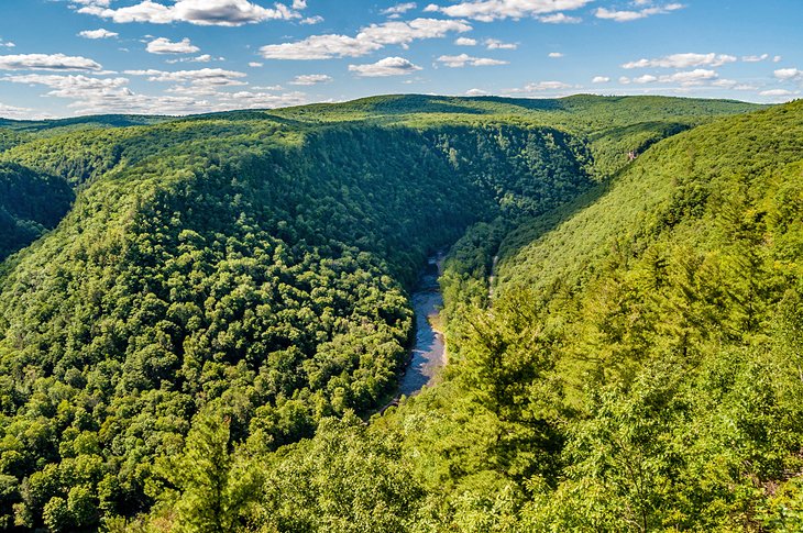
[[[7,529],[803,520],[802,102],[4,121],[0,192]],[[373,414],[444,247],[449,366]]]

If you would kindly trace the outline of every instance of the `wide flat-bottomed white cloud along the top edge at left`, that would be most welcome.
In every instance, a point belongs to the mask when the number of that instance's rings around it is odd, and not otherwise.
[[[108,4],[108,3],[107,3]],[[117,23],[150,22],[169,24],[189,22],[197,25],[241,26],[266,20],[298,19],[300,15],[282,3],[263,8],[249,0],[177,0],[172,5],[143,0],[124,8],[111,9],[91,3],[78,10],[79,13],[111,19]]]

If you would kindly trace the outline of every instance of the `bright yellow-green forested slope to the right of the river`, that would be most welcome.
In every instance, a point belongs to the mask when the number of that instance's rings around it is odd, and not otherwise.
[[[524,223],[491,309],[454,274],[473,243],[447,264],[451,377],[381,430],[441,528],[796,531],[803,102],[663,141]]]

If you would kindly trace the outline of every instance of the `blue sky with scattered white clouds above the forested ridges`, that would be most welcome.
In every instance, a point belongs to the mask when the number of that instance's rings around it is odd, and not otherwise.
[[[0,116],[803,93],[803,0],[0,0]]]

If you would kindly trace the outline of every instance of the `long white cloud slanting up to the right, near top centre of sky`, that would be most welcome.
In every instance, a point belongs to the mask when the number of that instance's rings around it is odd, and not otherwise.
[[[443,37],[450,32],[463,33],[472,27],[462,21],[415,19],[392,21],[363,27],[355,37],[348,35],[311,35],[294,43],[270,44],[260,48],[266,59],[329,59],[360,57],[387,45],[406,47],[415,40]]]

